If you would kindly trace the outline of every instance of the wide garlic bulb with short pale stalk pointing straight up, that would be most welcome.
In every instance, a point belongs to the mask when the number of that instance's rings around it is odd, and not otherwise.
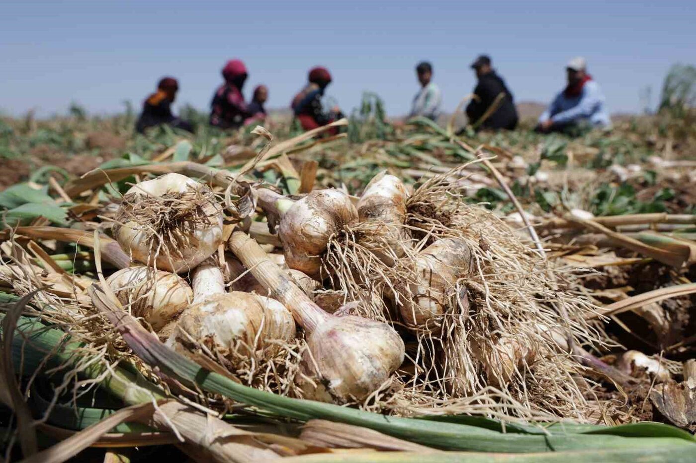
[[[178,330],[168,343],[184,346],[203,343],[229,362],[262,350],[278,351],[271,341],[294,338],[292,315],[280,302],[261,295],[225,292],[221,270],[203,263],[193,270],[193,306],[179,319]]]

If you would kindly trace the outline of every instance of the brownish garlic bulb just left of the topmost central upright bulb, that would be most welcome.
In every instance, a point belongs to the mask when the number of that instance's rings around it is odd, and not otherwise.
[[[289,268],[310,276],[319,273],[329,237],[358,220],[349,195],[316,190],[290,206],[280,219],[278,236]]]

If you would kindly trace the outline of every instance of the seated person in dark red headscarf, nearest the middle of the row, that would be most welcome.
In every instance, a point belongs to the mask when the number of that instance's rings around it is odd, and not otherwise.
[[[324,90],[331,83],[331,74],[326,67],[314,67],[309,72],[308,84],[305,88],[295,95],[290,107],[304,130],[316,129],[322,125],[330,124],[343,117],[338,106],[331,108],[331,111],[324,111],[322,108],[322,97]],[[329,133],[338,133],[338,127]]]

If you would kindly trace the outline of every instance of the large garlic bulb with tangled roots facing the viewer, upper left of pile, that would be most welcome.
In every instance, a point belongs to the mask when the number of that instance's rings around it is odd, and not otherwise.
[[[134,260],[180,273],[215,252],[222,243],[222,220],[208,186],[171,173],[130,188],[113,231]]]

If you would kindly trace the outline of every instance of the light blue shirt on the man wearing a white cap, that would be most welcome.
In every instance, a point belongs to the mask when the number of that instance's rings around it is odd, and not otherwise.
[[[556,95],[539,117],[539,122],[544,122],[549,117],[554,124],[559,125],[586,120],[594,127],[611,127],[604,95],[595,81],[587,81],[578,97],[566,97],[564,92]]]

